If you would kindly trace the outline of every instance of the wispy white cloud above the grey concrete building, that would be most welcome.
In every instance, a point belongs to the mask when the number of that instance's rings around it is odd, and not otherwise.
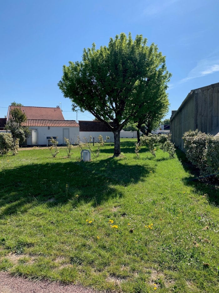
[[[197,66],[193,68],[188,76],[180,81],[180,83],[186,82],[189,79],[202,77],[207,74],[212,74],[219,71],[219,57],[203,59],[197,63]]]

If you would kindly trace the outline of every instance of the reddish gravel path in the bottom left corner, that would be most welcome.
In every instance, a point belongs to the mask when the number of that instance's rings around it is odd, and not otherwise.
[[[79,285],[36,282],[0,272],[0,293],[97,293],[97,291]]]

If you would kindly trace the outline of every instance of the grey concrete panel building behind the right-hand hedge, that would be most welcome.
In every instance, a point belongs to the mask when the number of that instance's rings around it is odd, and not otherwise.
[[[198,129],[216,135],[219,132],[219,83],[191,90],[170,118],[172,142],[183,150],[182,136]]]

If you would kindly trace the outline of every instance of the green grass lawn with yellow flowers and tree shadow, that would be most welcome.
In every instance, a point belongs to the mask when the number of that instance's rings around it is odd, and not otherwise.
[[[219,189],[135,139],[0,157],[0,270],[106,292],[219,292]],[[95,150],[95,147],[94,147]]]

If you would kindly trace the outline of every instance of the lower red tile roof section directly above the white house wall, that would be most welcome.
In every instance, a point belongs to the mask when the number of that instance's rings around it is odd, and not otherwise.
[[[79,127],[75,120],[41,120],[28,119],[22,123],[23,126],[60,126],[60,127]]]

